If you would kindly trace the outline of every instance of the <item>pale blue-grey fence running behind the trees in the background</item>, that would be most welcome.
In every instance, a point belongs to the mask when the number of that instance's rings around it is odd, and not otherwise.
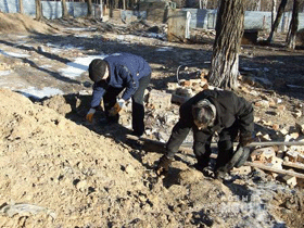
[[[61,1],[41,1],[42,14],[46,18],[59,18],[62,16]],[[24,13],[30,16],[36,15],[36,7],[34,0],[23,0]],[[69,15],[74,17],[87,15],[87,3],[85,2],[66,2]],[[191,13],[190,28],[215,28],[216,10],[205,9],[182,9]],[[0,11],[4,13],[18,12],[18,0],[0,0]],[[149,12],[148,12],[149,13]],[[147,17],[147,13],[140,13],[141,17]],[[287,31],[291,12],[286,12],[279,25],[279,31]],[[122,11],[122,17],[136,15],[134,11]],[[93,4],[93,16],[102,18],[102,5]],[[160,15],[161,16],[161,15]],[[262,11],[246,11],[244,18],[245,29],[270,29],[271,13]],[[304,13],[299,14],[299,29],[304,28]]]

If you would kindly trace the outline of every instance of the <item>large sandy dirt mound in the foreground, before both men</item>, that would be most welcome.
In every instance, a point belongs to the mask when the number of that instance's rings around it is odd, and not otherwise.
[[[161,154],[66,119],[63,98],[45,101],[58,112],[7,89],[0,100],[1,227],[273,227],[301,195],[263,173],[223,185],[178,160],[157,179]]]

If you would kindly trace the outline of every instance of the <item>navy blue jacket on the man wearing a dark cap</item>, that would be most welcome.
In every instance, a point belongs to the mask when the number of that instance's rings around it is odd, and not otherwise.
[[[110,77],[106,83],[96,83],[91,106],[96,107],[109,87],[126,88],[123,99],[128,100],[138,89],[139,79],[151,74],[151,67],[141,56],[117,53],[103,59],[109,64]]]

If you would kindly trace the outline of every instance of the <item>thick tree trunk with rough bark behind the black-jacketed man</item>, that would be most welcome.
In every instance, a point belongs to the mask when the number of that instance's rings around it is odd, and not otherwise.
[[[239,51],[244,31],[244,0],[221,0],[208,81],[224,89],[236,89]]]

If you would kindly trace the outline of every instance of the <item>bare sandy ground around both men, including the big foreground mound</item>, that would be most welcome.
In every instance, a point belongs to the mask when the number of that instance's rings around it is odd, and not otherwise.
[[[259,169],[214,180],[191,167],[195,161],[188,152],[177,154],[166,178],[157,178],[153,168],[163,150],[126,139],[129,113],[123,113],[123,125],[85,122],[91,92],[87,72],[62,73],[77,58],[122,51],[143,55],[153,68],[150,89],[159,90],[176,81],[180,64],[208,66],[208,39],[169,43],[149,36],[152,25],[84,18],[38,23],[0,13],[0,227],[303,226],[302,189]],[[256,83],[257,93],[240,93],[256,103],[263,97],[280,99],[286,106],[256,105],[257,118],[280,126],[303,121],[293,115],[295,107],[303,111],[303,50],[246,46],[240,62],[267,78]],[[45,88],[62,94],[40,100],[37,91]],[[149,110],[147,116],[156,122],[164,117],[161,112]],[[164,136],[173,126],[153,124]]]

